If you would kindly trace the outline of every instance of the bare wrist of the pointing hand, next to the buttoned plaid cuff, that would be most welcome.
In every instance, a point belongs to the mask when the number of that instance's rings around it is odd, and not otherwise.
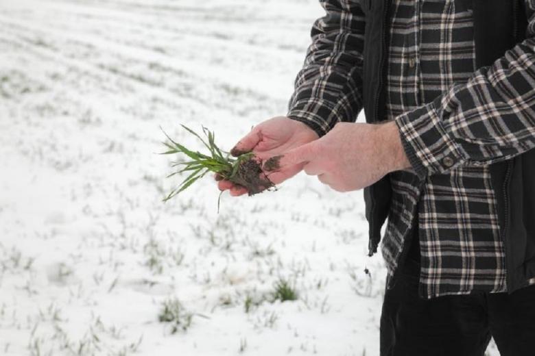
[[[405,149],[403,149],[401,136],[396,123],[392,120],[388,121],[388,123],[381,124],[379,132],[382,138],[380,142],[383,143],[384,159],[387,164],[388,173],[394,170],[411,168]]]

